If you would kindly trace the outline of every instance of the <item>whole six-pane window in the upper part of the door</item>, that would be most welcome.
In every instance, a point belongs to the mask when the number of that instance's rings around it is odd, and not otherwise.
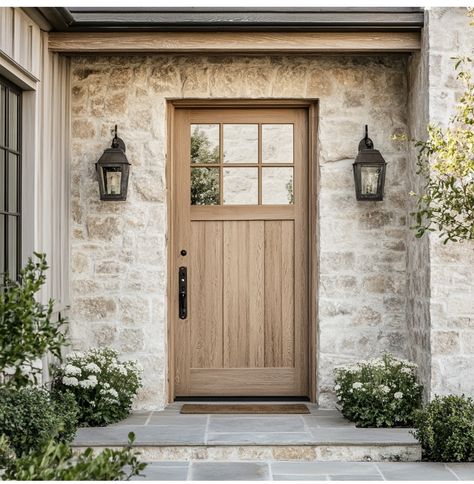
[[[291,205],[292,124],[191,124],[191,205]]]

